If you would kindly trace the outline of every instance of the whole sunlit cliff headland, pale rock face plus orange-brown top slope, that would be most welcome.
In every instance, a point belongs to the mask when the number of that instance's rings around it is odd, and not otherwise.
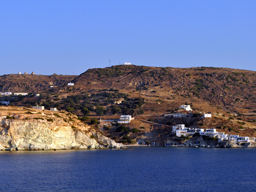
[[[1,109],[1,112],[3,112],[3,107]],[[5,109],[10,108],[5,107]],[[38,117],[38,115],[41,117]],[[66,114],[64,116],[63,114],[61,115],[56,116],[56,114],[53,115],[49,111],[47,111],[47,114],[43,111],[42,113],[27,114],[26,110],[16,111],[15,113],[7,110],[4,113],[0,113],[0,149],[54,150],[123,148],[121,143],[116,143],[108,137],[94,132],[95,130],[88,131],[90,126],[81,126],[75,120],[71,120],[71,117],[70,121],[66,120]]]

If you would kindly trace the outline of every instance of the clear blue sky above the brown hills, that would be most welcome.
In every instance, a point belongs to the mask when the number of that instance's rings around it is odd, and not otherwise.
[[[0,75],[131,62],[256,71],[256,0],[0,1]]]

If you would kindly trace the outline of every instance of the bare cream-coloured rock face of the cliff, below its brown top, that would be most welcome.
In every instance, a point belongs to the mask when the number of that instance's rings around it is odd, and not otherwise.
[[[0,150],[53,150],[123,148],[122,144],[85,131],[55,122],[31,122],[21,119],[2,119],[0,122]]]

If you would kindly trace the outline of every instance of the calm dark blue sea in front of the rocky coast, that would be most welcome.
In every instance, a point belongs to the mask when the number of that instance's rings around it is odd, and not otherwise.
[[[0,191],[256,191],[256,148],[0,151]]]

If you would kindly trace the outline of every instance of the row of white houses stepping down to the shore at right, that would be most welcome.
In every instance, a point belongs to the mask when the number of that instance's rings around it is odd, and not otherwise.
[[[195,133],[199,133],[200,135],[206,135],[209,137],[217,137],[218,141],[229,140],[233,142],[255,142],[254,137],[239,137],[239,135],[228,135],[224,132],[218,132],[215,128],[212,129],[204,129],[201,128],[186,128],[185,125],[175,125],[172,126],[172,132],[176,133],[177,137],[193,135]]]

